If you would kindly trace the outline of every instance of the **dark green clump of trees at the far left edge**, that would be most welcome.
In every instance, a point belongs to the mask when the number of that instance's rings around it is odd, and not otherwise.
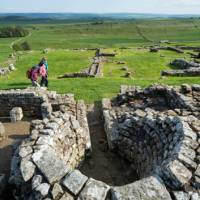
[[[0,38],[11,38],[11,37],[25,37],[29,34],[27,29],[21,26],[9,26],[0,28]]]

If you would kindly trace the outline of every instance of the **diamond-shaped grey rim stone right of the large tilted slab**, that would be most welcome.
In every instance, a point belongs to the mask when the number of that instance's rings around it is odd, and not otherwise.
[[[87,180],[87,176],[83,175],[79,170],[74,170],[64,178],[63,185],[74,195],[77,195]]]

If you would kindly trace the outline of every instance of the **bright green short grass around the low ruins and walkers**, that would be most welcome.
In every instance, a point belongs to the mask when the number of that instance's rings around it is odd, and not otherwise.
[[[109,50],[109,51],[113,51]],[[103,97],[113,97],[119,91],[120,85],[140,85],[142,87],[153,83],[180,85],[182,83],[199,83],[200,78],[182,77],[161,79],[160,72],[170,69],[168,63],[180,54],[161,51],[149,53],[146,50],[116,50],[116,58],[110,59],[104,65],[104,78],[58,79],[59,75],[68,72],[78,72],[90,66],[94,51],[51,51],[45,56],[49,61],[49,89],[59,93],[73,93],[77,99],[86,102],[99,101]],[[160,57],[160,54],[165,57]],[[23,53],[17,61],[17,71],[8,77],[0,79],[0,89],[25,88],[30,86],[30,80],[25,76],[26,70],[39,62],[43,56],[41,51]],[[188,56],[188,55],[185,55]],[[124,78],[121,65],[114,61],[126,61],[126,66],[134,72],[132,78]],[[112,73],[110,73],[110,70]]]

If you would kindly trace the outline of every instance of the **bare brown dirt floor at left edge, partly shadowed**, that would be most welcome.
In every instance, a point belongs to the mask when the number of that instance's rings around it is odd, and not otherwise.
[[[0,142],[0,174],[9,176],[10,162],[12,159],[12,144],[22,140],[29,134],[30,122],[21,121],[17,123],[3,123],[7,138]]]

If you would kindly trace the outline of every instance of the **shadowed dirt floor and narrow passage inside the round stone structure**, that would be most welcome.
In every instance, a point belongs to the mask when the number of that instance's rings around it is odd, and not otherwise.
[[[84,162],[80,169],[82,173],[115,186],[135,181],[137,174],[131,170],[130,163],[108,150],[100,109],[92,105],[88,107],[88,122],[92,140],[92,157]]]

